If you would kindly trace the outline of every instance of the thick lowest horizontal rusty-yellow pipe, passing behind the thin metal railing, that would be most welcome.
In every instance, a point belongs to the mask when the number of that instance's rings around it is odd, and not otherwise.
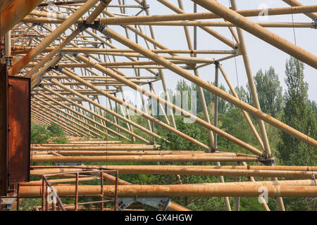
[[[74,195],[75,186],[54,186],[58,196]],[[264,186],[268,197],[316,198],[317,186]],[[122,185],[118,186],[118,197],[259,197],[263,186],[211,186],[204,184],[181,185]],[[21,186],[20,197],[42,195],[42,186]],[[100,186],[78,186],[79,195],[97,195]],[[115,186],[104,186],[104,195],[113,197]]]

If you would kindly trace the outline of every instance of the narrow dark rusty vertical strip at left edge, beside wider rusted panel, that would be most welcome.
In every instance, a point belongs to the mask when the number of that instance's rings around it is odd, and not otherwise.
[[[6,65],[0,64],[0,196],[8,188],[8,108]]]

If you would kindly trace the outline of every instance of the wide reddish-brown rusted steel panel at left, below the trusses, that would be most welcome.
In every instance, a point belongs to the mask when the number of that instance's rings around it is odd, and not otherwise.
[[[9,183],[30,181],[30,79],[8,77]]]

